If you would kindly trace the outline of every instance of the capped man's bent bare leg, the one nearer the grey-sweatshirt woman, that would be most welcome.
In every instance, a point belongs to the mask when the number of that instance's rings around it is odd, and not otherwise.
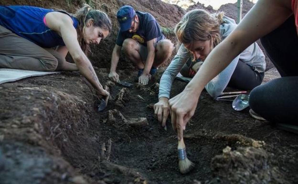
[[[156,54],[153,67],[158,68],[159,65],[167,61],[172,55],[174,45],[168,39],[161,40],[156,45]]]

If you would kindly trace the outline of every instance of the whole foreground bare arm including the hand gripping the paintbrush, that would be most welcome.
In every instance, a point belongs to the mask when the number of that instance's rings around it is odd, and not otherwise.
[[[291,16],[291,0],[259,0],[236,29],[216,46],[185,89],[169,100],[172,124],[183,136],[188,120],[194,115],[204,86],[219,74],[246,47],[270,33]]]

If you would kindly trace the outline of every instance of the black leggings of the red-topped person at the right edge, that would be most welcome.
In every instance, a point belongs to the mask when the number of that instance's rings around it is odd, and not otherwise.
[[[298,36],[294,16],[261,38],[261,43],[282,78],[254,88],[249,106],[271,122],[298,124]]]

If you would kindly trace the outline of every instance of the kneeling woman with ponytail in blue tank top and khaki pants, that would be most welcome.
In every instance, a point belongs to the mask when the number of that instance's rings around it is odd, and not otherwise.
[[[80,70],[98,95],[109,95],[86,54],[89,44],[99,44],[110,31],[108,16],[89,5],[73,15],[40,7],[0,6],[0,68]],[[75,64],[65,60],[68,52]]]

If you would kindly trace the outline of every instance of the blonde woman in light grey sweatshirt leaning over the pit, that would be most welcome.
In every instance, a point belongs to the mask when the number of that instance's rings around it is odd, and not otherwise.
[[[176,25],[175,32],[181,46],[160,79],[159,102],[154,105],[154,112],[162,126],[165,126],[169,114],[170,89],[176,75],[180,71],[184,76],[193,77],[209,53],[236,26],[235,21],[224,16],[224,13],[209,14],[205,10],[191,10]],[[254,42],[239,52],[229,66],[209,81],[205,89],[212,98],[220,95],[226,86],[253,89],[263,81],[265,68],[265,56]]]

